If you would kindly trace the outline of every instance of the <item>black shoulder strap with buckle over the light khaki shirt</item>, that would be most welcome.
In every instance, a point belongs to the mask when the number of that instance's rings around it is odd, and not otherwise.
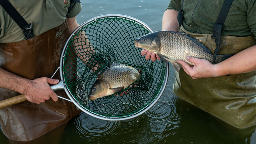
[[[5,9],[5,11],[11,16],[11,18],[18,24],[22,29],[25,39],[28,40],[33,35],[32,23],[28,24],[25,19],[20,15],[20,13],[11,5],[8,0],[0,0],[0,5]]]

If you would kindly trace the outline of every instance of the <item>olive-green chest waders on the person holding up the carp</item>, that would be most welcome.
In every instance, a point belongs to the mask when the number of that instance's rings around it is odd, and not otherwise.
[[[183,21],[182,21],[183,22]],[[214,53],[215,39],[212,34],[185,32],[201,41]],[[221,36],[218,54],[234,54],[256,44],[254,36]],[[181,99],[237,127],[256,124],[256,71],[193,80],[183,69],[175,72],[174,93]]]

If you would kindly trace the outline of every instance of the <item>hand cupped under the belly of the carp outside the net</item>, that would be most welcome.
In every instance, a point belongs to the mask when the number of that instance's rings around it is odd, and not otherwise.
[[[184,71],[192,78],[210,78],[217,77],[215,73],[215,65],[205,59],[197,59],[194,57],[186,57],[187,61],[194,63],[195,65],[188,65],[186,62],[178,60],[184,69]]]

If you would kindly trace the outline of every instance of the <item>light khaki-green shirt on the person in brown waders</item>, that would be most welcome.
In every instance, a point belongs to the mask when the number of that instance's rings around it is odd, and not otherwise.
[[[40,35],[61,25],[70,6],[70,0],[9,0],[27,23],[33,23],[33,34]],[[82,9],[81,3],[75,3],[68,18],[75,17]],[[21,28],[0,6],[0,43],[25,40]]]

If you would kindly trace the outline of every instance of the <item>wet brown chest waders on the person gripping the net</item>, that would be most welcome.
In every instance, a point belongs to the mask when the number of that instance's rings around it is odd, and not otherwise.
[[[29,40],[1,43],[0,49],[6,58],[2,68],[31,80],[51,77],[59,66],[61,50],[69,36],[66,20],[60,26]],[[59,74],[55,76],[55,79],[59,79]],[[67,98],[64,90],[55,93]],[[18,93],[0,88],[0,95],[0,100],[3,100]],[[25,101],[0,109],[0,124],[9,139],[30,141],[68,122],[80,112],[72,102],[63,99],[57,102],[50,99],[41,104]]]

